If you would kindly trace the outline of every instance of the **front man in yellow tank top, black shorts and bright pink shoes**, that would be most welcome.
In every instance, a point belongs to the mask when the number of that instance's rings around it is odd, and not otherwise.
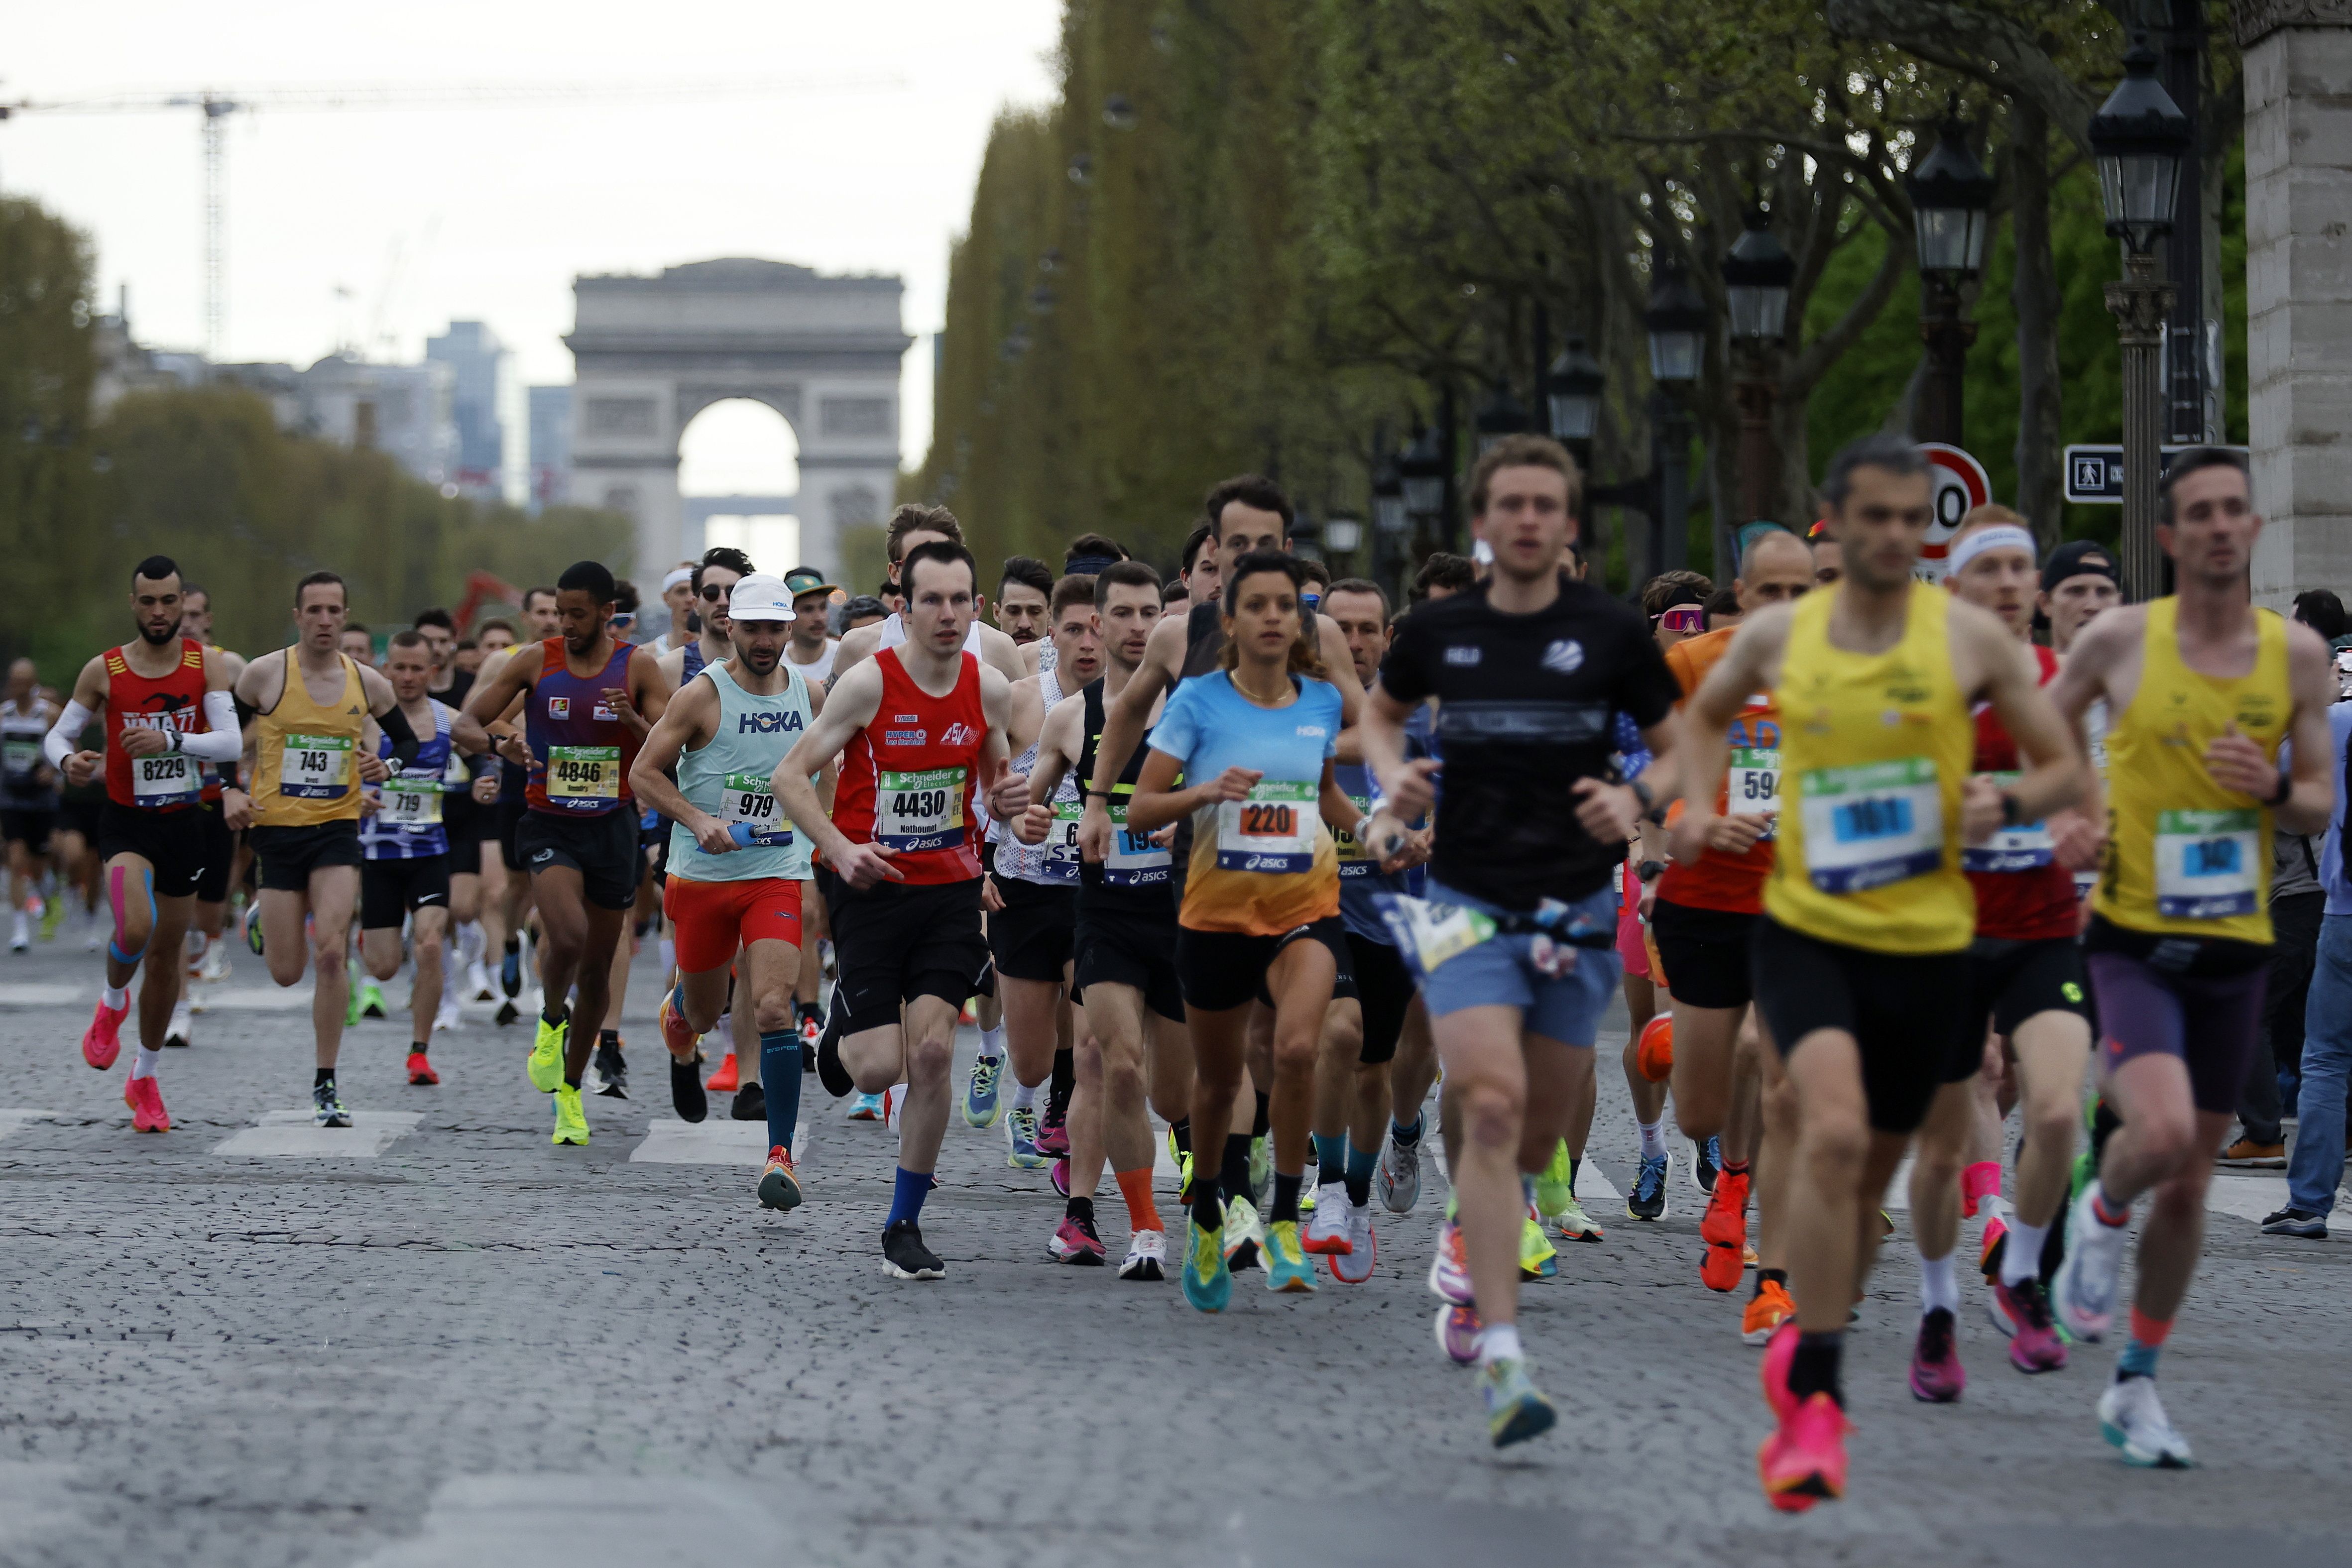
[[[1877,1208],[1940,1084],[1980,1058],[1969,1020],[1973,896],[1962,844],[2037,823],[2082,792],[2082,764],[1999,621],[1912,578],[1933,522],[1926,456],[1870,435],[1823,480],[1846,576],[1740,625],[1686,708],[1679,858],[1715,842],[1729,729],[1755,693],[1783,715],[1780,813],[1755,1004],[1797,1098],[1788,1262],[1797,1319],[1764,1349],[1778,1432],[1764,1495],[1799,1512],[1846,1486],[1839,1349],[1877,1251]],[[1971,778],[1990,701],[2023,773]],[[1955,1067],[1957,1063],[1957,1067]]]

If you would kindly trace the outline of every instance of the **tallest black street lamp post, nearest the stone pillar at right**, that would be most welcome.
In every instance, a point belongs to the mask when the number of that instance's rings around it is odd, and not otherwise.
[[[2164,581],[2157,559],[2157,477],[2164,461],[2164,390],[2157,383],[2164,317],[2173,289],[2157,277],[2154,247],[2173,228],[2190,122],[2157,80],[2157,52],[2136,35],[2124,80],[2091,115],[2091,155],[2107,233],[2124,242],[2124,277],[2107,284],[2107,310],[2124,346],[2124,592],[2152,599]]]

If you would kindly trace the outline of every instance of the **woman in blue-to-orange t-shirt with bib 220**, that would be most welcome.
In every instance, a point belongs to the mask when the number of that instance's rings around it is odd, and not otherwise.
[[[1261,1234],[1249,1194],[1228,1192],[1221,1173],[1195,1166],[1183,1293],[1202,1312],[1223,1312],[1230,1269],[1249,1267],[1261,1251],[1268,1291],[1315,1288],[1298,1237],[1298,1192],[1315,1114],[1315,1046],[1348,961],[1338,851],[1324,825],[1362,827],[1331,773],[1343,701],[1322,679],[1305,635],[1305,571],[1282,550],[1221,552],[1221,562],[1218,668],[1169,698],[1124,827],[1148,835],[1192,818],[1176,976],[1192,1030],[1195,1131],[1230,1124],[1249,1004],[1272,1011],[1272,1070],[1256,1079],[1270,1095],[1272,1211]],[[1101,755],[1094,773],[1101,780]],[[1192,783],[1176,788],[1178,776]]]

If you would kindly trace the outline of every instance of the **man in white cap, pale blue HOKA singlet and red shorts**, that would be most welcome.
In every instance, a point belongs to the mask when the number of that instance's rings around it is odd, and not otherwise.
[[[670,818],[663,907],[680,971],[661,999],[670,1103],[687,1121],[708,1114],[696,1041],[729,1006],[729,987],[741,985],[734,1013],[750,1018],[760,1034],[753,1081],[767,1084],[769,1150],[760,1173],[760,1204],[767,1208],[797,1208],[802,1199],[793,1164],[800,1124],[793,983],[800,971],[800,893],[809,875],[809,837],[776,811],[771,778],[826,708],[823,686],[786,658],[795,614],[795,595],[783,581],[762,574],[736,578],[724,616],[731,656],[706,663],[696,679],[677,689],[630,766],[637,799]],[[677,771],[675,783],[670,769]],[[828,776],[828,792],[830,783]]]

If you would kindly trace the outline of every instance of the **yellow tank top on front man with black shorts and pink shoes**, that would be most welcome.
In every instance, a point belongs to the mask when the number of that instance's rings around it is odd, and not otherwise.
[[[1870,952],[1957,952],[1976,936],[1959,788],[1976,724],[1952,679],[1950,595],[1912,583],[1884,654],[1830,644],[1837,592],[1809,592],[1780,656],[1780,849],[1764,912]]]

